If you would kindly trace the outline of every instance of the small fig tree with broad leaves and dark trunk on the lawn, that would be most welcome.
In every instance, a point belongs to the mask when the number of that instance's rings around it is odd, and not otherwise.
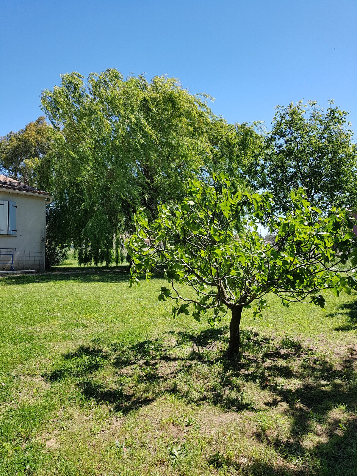
[[[219,191],[218,191],[219,190]],[[321,292],[357,289],[354,275],[340,273],[339,263],[351,258],[357,264],[357,242],[349,210],[334,208],[324,216],[310,205],[299,188],[290,196],[291,209],[274,217],[268,192],[235,191],[225,174],[214,176],[209,186],[194,180],[177,205],[160,205],[158,217],[149,222],[144,208],[136,215],[136,232],[127,249],[133,260],[130,286],[139,284],[164,265],[171,289],[162,287],[159,301],[173,299],[172,314],[189,313],[200,318],[208,313],[214,326],[231,311],[228,356],[239,352],[239,325],[243,309],[253,306],[255,316],[268,306],[267,294],[290,302],[311,302],[324,307]],[[245,229],[236,234],[234,223],[244,214]],[[268,243],[257,231],[259,221],[268,223],[275,242]],[[181,284],[191,291],[186,293]],[[182,303],[181,303],[182,302]]]

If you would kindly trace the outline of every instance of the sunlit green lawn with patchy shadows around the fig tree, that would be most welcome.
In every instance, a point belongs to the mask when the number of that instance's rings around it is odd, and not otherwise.
[[[67,263],[68,265],[69,263]],[[159,278],[0,278],[0,475],[356,475],[356,295],[173,320]]]

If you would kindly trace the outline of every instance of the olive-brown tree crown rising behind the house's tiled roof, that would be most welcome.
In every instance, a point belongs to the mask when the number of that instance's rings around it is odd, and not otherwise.
[[[41,116],[25,129],[0,138],[0,169],[10,178],[38,187],[41,162],[50,150],[52,128]]]

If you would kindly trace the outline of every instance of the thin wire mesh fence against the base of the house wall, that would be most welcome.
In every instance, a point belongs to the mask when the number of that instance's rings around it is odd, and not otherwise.
[[[16,248],[0,248],[0,271],[10,271],[11,261],[15,271],[24,269],[43,270],[44,253],[43,251],[17,251]],[[13,258],[12,258],[13,254]]]

